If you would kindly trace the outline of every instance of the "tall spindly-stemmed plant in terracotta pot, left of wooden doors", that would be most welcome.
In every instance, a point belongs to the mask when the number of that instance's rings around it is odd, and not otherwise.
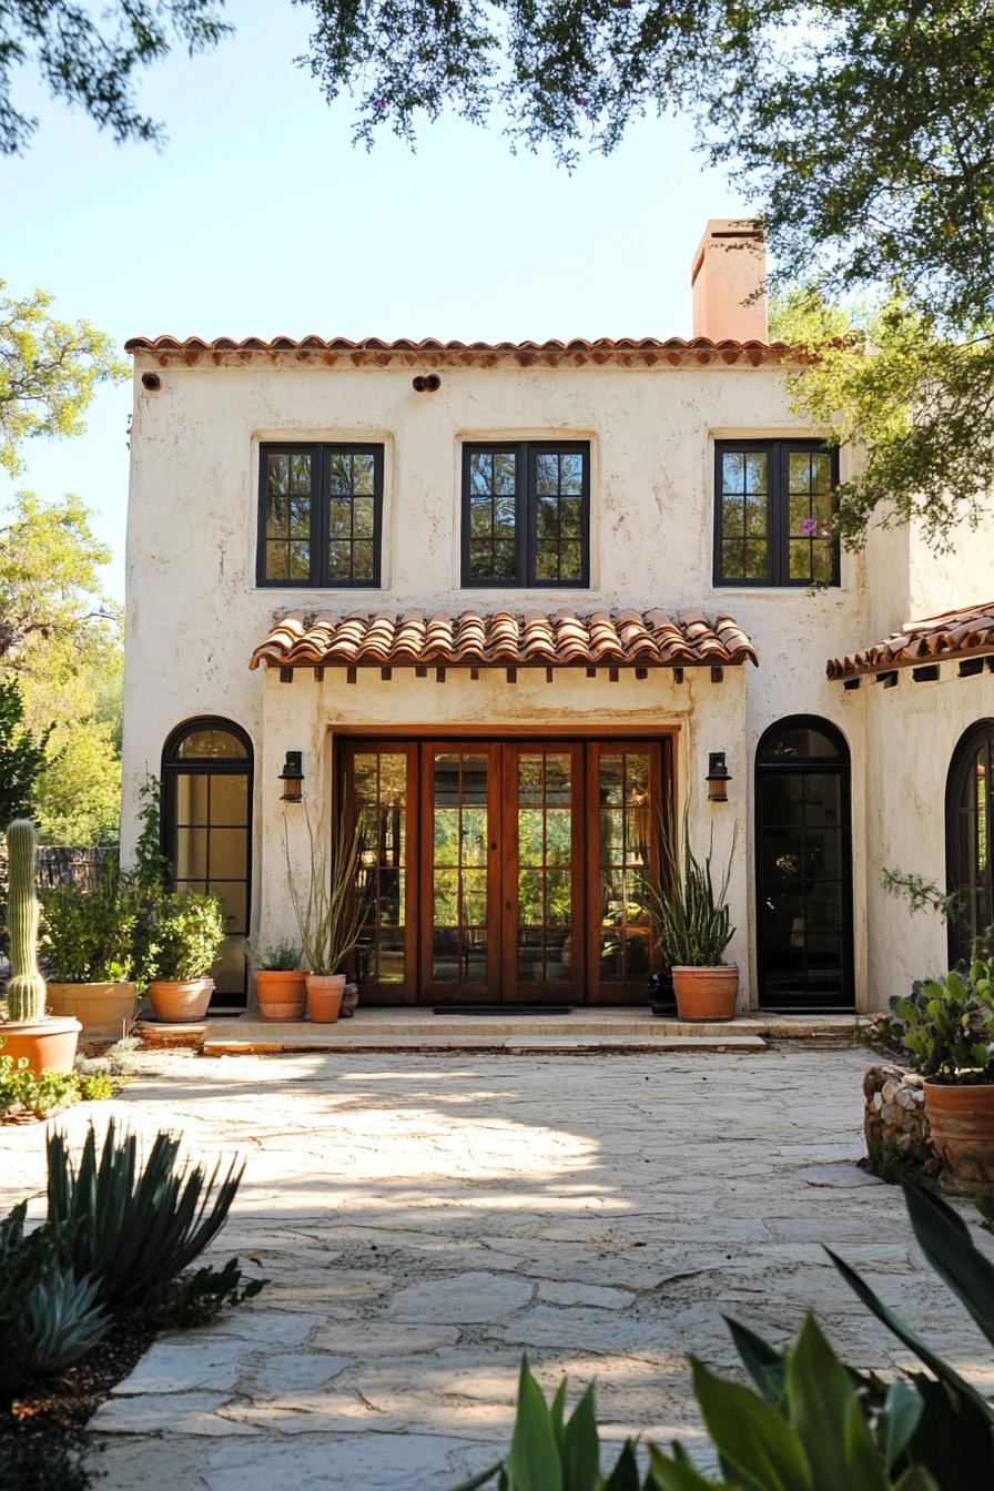
[[[286,872],[291,901],[300,929],[307,969],[307,1017],[314,1021],[338,1018],[341,997],[346,990],[343,963],[359,941],[359,895],[356,892],[356,865],[359,860],[358,830],[349,830],[344,823],[326,836],[317,848],[314,830],[307,819],[310,865],[307,886],[298,883],[291,866],[291,851],[286,835]]]

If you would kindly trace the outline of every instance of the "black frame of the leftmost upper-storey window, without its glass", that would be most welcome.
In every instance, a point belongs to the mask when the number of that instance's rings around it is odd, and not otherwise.
[[[328,502],[329,470],[335,453],[373,456],[373,579],[334,580],[328,574]],[[306,579],[270,579],[265,573],[268,556],[267,519],[267,456],[308,455],[311,459],[310,501],[310,574]],[[383,468],[384,446],[382,441],[362,440],[267,440],[259,444],[259,483],[255,583],[259,589],[317,589],[317,590],[379,590],[383,584]]]

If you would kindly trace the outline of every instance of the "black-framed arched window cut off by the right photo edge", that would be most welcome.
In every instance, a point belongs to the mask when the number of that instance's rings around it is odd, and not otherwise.
[[[978,720],[952,753],[946,783],[946,887],[960,896],[949,918],[949,960],[970,957],[994,924],[994,720]]]

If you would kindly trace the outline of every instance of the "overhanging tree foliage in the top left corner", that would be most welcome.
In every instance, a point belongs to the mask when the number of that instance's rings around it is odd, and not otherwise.
[[[37,119],[12,100],[15,69],[40,73],[54,98],[82,109],[113,140],[161,140],[162,127],[136,103],[136,75],[174,46],[215,46],[231,27],[222,0],[116,0],[91,9],[73,0],[6,0],[0,10],[0,155],[27,149]]]

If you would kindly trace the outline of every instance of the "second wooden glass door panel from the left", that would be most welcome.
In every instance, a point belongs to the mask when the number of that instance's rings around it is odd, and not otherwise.
[[[440,1002],[498,997],[498,750],[422,748],[422,987]]]

